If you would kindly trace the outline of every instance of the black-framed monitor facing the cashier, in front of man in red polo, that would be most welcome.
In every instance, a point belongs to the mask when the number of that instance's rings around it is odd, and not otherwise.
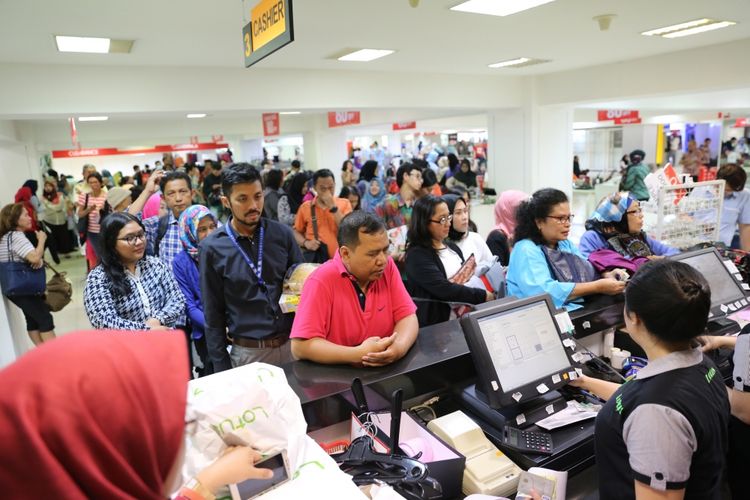
[[[503,302],[461,319],[477,369],[477,389],[500,408],[525,403],[575,373],[549,295]]]

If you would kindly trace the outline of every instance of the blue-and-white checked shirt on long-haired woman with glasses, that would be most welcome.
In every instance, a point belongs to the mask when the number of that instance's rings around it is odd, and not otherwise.
[[[126,279],[130,281],[131,292],[113,296],[112,281],[101,265],[89,273],[83,305],[94,328],[149,330],[148,318],[174,327],[177,319],[185,314],[185,297],[170,269],[160,259],[145,256],[136,266],[136,275],[128,274]]]

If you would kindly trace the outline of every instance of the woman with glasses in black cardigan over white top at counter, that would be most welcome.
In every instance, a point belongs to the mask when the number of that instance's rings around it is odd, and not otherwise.
[[[450,302],[480,304],[494,298],[491,292],[465,285],[474,270],[464,265],[461,249],[448,241],[452,222],[442,198],[427,195],[414,203],[407,235],[406,285],[417,303],[420,326],[450,319]]]

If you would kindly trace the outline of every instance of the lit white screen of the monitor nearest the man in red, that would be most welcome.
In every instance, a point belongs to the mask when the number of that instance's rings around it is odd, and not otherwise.
[[[478,318],[477,324],[503,392],[570,367],[544,298]]]

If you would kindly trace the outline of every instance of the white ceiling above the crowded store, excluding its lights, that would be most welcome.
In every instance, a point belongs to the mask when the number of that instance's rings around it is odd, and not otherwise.
[[[255,0],[246,0],[253,5]],[[500,18],[452,12],[459,0],[294,0],[295,41],[266,68],[532,75],[623,61],[750,37],[748,0],[557,0]],[[617,14],[608,32],[591,19]],[[736,26],[667,40],[641,31],[712,17]],[[242,67],[240,0],[0,0],[0,63]],[[54,34],[135,39],[131,54],[60,54]],[[327,59],[344,48],[394,49],[372,63]],[[519,56],[551,59],[524,69],[487,65]],[[740,54],[734,59],[743,60]],[[690,71],[699,71],[700,61]],[[684,77],[685,75],[674,75]],[[180,78],[210,72],[180,70]],[[647,75],[623,75],[623,78]]]

